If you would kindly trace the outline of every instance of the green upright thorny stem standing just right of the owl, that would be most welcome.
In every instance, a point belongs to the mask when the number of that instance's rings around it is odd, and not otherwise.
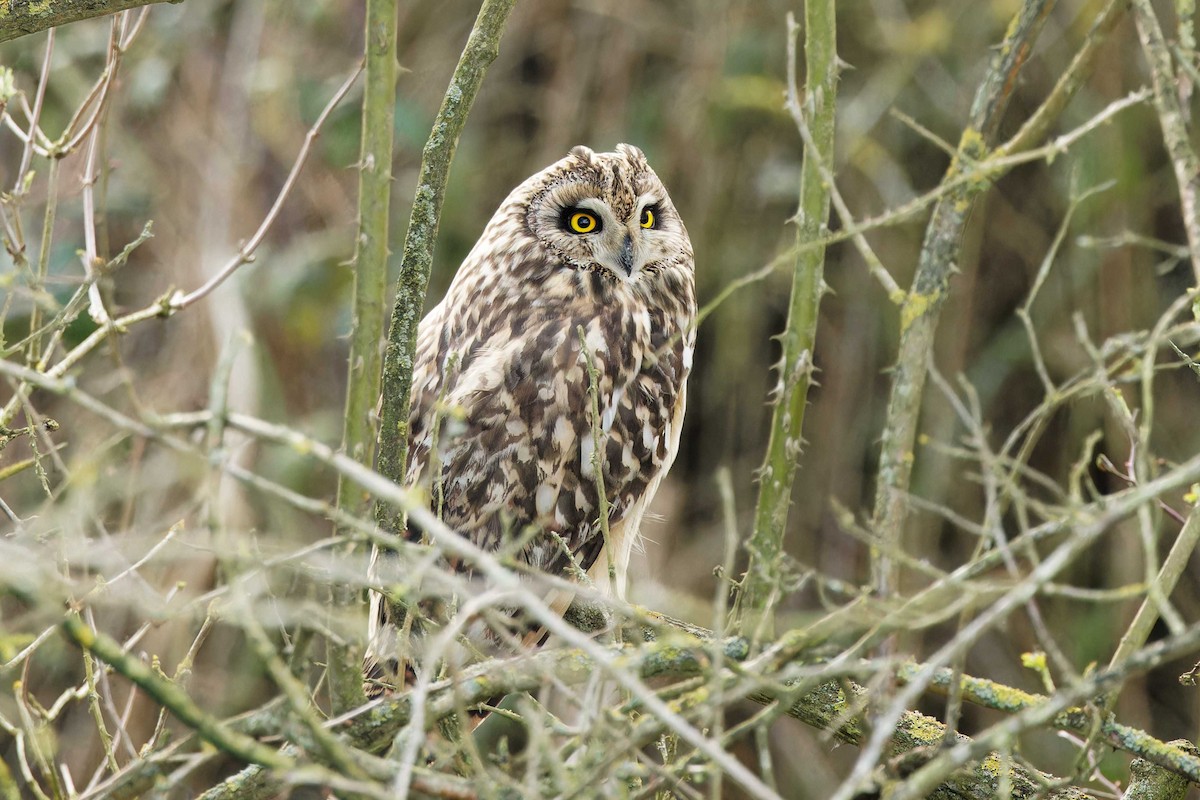
[[[838,97],[838,34],[833,0],[804,4],[805,94],[796,89],[796,34],[788,14],[788,104],[806,126],[814,151],[805,150],[800,168],[800,203],[796,213],[797,246],[822,237],[829,218],[829,182],[822,164],[833,163],[834,121]],[[748,548],[750,565],[743,583],[742,609],[760,616],[757,627],[772,636],[770,599],[780,583],[784,533],[792,503],[792,483],[804,432],[804,409],[812,381],[812,349],[816,343],[817,309],[824,291],[824,247],[802,248],[792,272],[787,326],[780,337],[779,385],[772,411],[770,439],[758,477],[758,505]]]

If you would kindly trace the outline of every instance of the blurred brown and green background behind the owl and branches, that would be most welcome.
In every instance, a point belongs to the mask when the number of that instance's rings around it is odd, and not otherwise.
[[[1045,96],[1099,6],[1093,0],[1057,4],[1014,90],[1001,138]],[[858,218],[880,215],[937,185],[949,161],[944,143],[956,143],[990,48],[1016,7],[1015,0],[840,4],[845,71],[835,168]],[[394,249],[404,233],[420,148],[476,10],[478,4],[467,0],[402,4]],[[458,148],[430,303],[440,296],[508,191],[580,143],[607,150],[629,142],[646,151],[691,234],[702,302],[785,249],[792,239],[787,222],[796,209],[802,157],[799,137],[782,109],[787,11],[799,11],[799,4],[521,0]],[[101,254],[118,252],[148,219],[154,221],[155,237],[107,281],[112,307],[139,308],[172,288],[199,285],[253,231],[307,127],[359,61],[361,14],[361,4],[349,0],[190,0],[151,8],[148,29],[122,62],[106,124],[110,172]],[[59,131],[70,119],[103,66],[107,37],[107,22],[58,31],[43,112],[47,130]],[[38,35],[0,46],[0,64],[14,70],[18,86],[30,95],[44,42],[46,36]],[[1099,65],[1061,120],[1060,132],[1148,83],[1130,20],[1104,46]],[[253,344],[241,348],[235,363],[230,405],[324,441],[338,440],[359,92],[328,122],[256,261],[209,301],[169,321],[132,329],[115,347],[90,359],[78,373],[89,391],[119,408],[160,413],[204,408],[217,354],[232,335],[247,330]],[[12,186],[19,157],[19,142],[0,132],[0,186]],[[48,290],[62,302],[80,279],[82,154],[64,160],[60,168]],[[1025,301],[1073,192],[1099,185],[1110,186],[1079,207],[1031,309],[1051,378],[1062,380],[1088,367],[1073,315],[1080,315],[1098,342],[1153,325],[1190,285],[1187,265],[1172,251],[1128,241],[1129,236],[1183,239],[1177,188],[1148,107],[1120,114],[1066,156],[1021,167],[1001,180],[972,213],[935,354],[942,374],[953,380],[962,373],[976,386],[995,443],[1042,399],[1028,341],[1014,311]],[[44,192],[44,182],[35,181],[26,203],[25,225],[35,248]],[[924,222],[925,216],[918,215],[868,234],[901,285],[907,285],[914,269]],[[833,224],[838,227],[836,221]],[[7,272],[11,265],[0,254]],[[830,291],[817,337],[820,385],[811,396],[787,545],[802,565],[856,584],[865,579],[866,548],[840,529],[835,509],[840,504],[860,519],[869,516],[899,309],[850,246],[830,247],[826,276]],[[646,525],[646,555],[632,573],[636,602],[710,621],[713,567],[721,560],[725,535],[714,475],[722,467],[732,470],[739,530],[745,535],[778,356],[772,336],[784,325],[788,282],[784,269],[737,291],[700,330],[680,456],[660,493],[661,521]],[[0,285],[0,293],[7,291],[13,296],[4,335],[12,343],[28,333],[29,309],[42,299],[12,283]],[[390,297],[385,301],[390,303]],[[82,317],[71,337],[82,339],[91,325]],[[1168,371],[1157,386],[1153,456],[1178,459],[1194,453],[1200,443],[1195,377],[1186,369]],[[1136,392],[1127,392],[1126,399],[1136,408]],[[131,542],[161,537],[173,523],[194,515],[200,501],[192,487],[203,464],[194,465],[193,475],[181,474],[180,465],[168,464],[154,446],[114,438],[77,407],[47,398],[40,409],[62,425],[59,440],[65,446],[59,456],[73,473],[56,498],[60,517],[72,513],[73,498],[80,518],[84,505],[95,506],[103,498],[106,524],[120,531],[118,546],[132,552],[137,546]],[[983,498],[973,480],[976,470],[946,447],[962,429],[936,390],[928,392],[922,431],[928,437],[923,441],[930,444],[916,453],[914,493],[978,518]],[[1074,463],[1090,461],[1085,443],[1092,432],[1100,433],[1094,453],[1118,464],[1128,458],[1126,434],[1103,401],[1091,397],[1055,415],[1031,465],[1066,483]],[[4,458],[28,455],[28,445],[14,444]],[[284,476],[306,494],[332,495],[332,476],[295,453],[246,444],[240,457]],[[1120,487],[1094,467],[1090,473],[1102,492]],[[6,481],[4,492],[10,505],[28,509],[42,489],[37,476],[25,473]],[[84,494],[86,500],[79,497]],[[252,493],[242,495],[236,518],[235,529],[257,533],[238,545],[238,558],[248,560],[276,552],[283,541],[329,534],[326,521]],[[1118,527],[1104,541],[1105,547],[1072,569],[1069,581],[1088,588],[1140,581],[1141,549],[1133,529]],[[977,545],[932,515],[917,512],[910,519],[906,546],[917,558],[954,566]],[[161,582],[160,588],[186,582],[180,596],[193,599],[214,579],[211,560],[197,553],[148,576]],[[913,587],[920,582],[910,579]],[[290,589],[283,585],[277,591],[288,596]],[[302,591],[298,600],[304,601]],[[822,600],[815,589],[805,589],[790,600],[787,610],[803,615],[820,608]],[[1196,618],[1200,597],[1194,579],[1181,584],[1176,602],[1187,619]],[[302,613],[300,608],[295,613]],[[1134,600],[1060,597],[1046,600],[1043,610],[1051,630],[1073,632],[1060,644],[1084,669],[1109,657],[1114,637],[1134,608]],[[132,609],[130,624],[148,610],[154,609]],[[913,634],[905,648],[919,656],[938,634],[937,630]],[[196,669],[193,692],[228,710],[245,708],[264,688],[245,680],[258,667],[235,646],[236,631],[218,630],[214,636],[216,640],[202,651],[206,666]],[[173,668],[190,640],[191,633],[164,626],[151,631],[144,646]],[[1008,628],[980,642],[967,670],[1037,690],[1036,675],[1022,672],[1018,657],[1031,640],[1022,619],[1014,618]],[[6,643],[10,652],[12,644]],[[64,648],[48,644],[40,652],[37,663],[46,669],[28,676],[32,691],[64,685],[64,670],[74,669],[55,667],[55,654]],[[1195,738],[1195,700],[1175,681],[1178,672],[1159,670],[1130,686],[1122,696],[1123,721],[1162,739]],[[967,733],[972,715],[980,714],[968,710]],[[77,717],[79,730],[90,726],[83,709]],[[144,724],[152,722],[148,718]],[[773,730],[776,747],[788,753],[776,762],[781,788],[790,787],[788,796],[823,796],[840,774],[841,756],[820,734],[792,721]],[[67,727],[64,735],[71,732]],[[1039,735],[1045,741],[1031,752],[1034,760],[1052,768],[1054,740]],[[79,758],[97,756],[94,750]]]

